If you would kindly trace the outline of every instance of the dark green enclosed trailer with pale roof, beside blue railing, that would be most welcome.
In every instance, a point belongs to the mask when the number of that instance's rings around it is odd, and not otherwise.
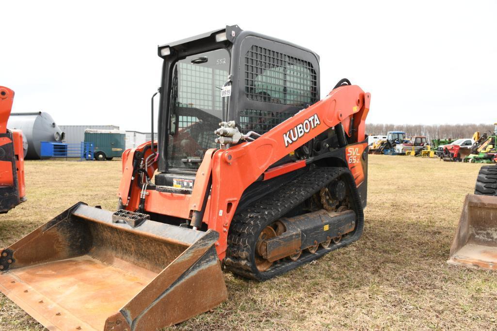
[[[92,143],[95,160],[104,161],[120,158],[126,148],[126,133],[119,130],[84,131],[84,142]]]

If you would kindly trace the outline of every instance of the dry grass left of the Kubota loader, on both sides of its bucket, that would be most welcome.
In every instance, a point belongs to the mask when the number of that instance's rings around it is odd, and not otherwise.
[[[115,209],[121,162],[27,161],[27,202],[0,215],[0,247],[13,244],[79,201]],[[0,330],[43,330],[0,294]]]

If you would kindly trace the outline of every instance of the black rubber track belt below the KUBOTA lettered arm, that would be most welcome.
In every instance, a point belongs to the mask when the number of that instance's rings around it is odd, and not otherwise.
[[[341,242],[329,248],[320,247],[316,253],[302,252],[297,261],[283,259],[282,262],[273,264],[269,270],[259,272],[252,262],[258,234],[267,225],[272,224],[339,176],[347,182],[353,204],[356,206],[356,229]],[[358,240],[363,227],[363,209],[350,171],[343,167],[315,167],[287,183],[271,196],[256,201],[234,215],[228,234],[225,265],[228,270],[246,278],[269,279]]]

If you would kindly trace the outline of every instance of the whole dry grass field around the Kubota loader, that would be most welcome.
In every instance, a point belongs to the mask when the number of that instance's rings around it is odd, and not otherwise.
[[[497,329],[497,273],[446,263],[479,168],[370,156],[358,242],[262,283],[225,273],[228,301],[170,329]],[[120,161],[27,162],[28,201],[0,215],[0,246],[78,201],[114,209],[120,170]],[[0,294],[0,330],[43,327]]]

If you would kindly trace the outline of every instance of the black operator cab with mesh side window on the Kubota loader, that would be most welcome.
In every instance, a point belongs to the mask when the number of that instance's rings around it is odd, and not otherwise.
[[[159,46],[164,59],[159,112],[158,190],[189,193],[214,131],[235,121],[264,134],[320,99],[319,57],[237,25]],[[319,146],[320,147],[320,146]],[[283,162],[307,158],[312,143]]]

